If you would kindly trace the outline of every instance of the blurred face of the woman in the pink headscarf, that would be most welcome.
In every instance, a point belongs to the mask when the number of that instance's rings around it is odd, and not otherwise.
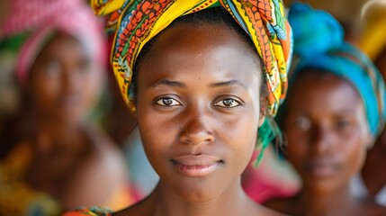
[[[42,117],[80,121],[98,98],[102,78],[102,70],[94,66],[78,40],[58,35],[31,68],[32,103]]]

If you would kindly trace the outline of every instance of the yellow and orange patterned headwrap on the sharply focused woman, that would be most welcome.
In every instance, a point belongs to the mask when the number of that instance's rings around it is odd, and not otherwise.
[[[176,18],[213,6],[222,6],[236,19],[263,59],[269,114],[274,116],[285,96],[292,44],[282,0],[93,0],[92,6],[95,14],[110,14],[108,27],[115,30],[111,63],[121,94],[132,110],[130,82],[143,46]]]

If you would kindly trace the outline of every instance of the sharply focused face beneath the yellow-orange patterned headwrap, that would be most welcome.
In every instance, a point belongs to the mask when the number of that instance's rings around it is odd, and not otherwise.
[[[137,115],[161,184],[188,201],[239,184],[260,115],[257,55],[223,26],[179,24],[139,67]]]

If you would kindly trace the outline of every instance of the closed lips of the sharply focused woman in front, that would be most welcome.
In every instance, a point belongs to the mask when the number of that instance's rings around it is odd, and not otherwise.
[[[207,155],[184,155],[171,162],[178,172],[191,177],[210,175],[223,163],[219,158]]]

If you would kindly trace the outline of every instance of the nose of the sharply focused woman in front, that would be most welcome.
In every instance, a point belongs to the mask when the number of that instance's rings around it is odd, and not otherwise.
[[[180,135],[180,141],[186,144],[202,145],[215,140],[210,129],[210,118],[202,113],[195,113],[188,117]]]

